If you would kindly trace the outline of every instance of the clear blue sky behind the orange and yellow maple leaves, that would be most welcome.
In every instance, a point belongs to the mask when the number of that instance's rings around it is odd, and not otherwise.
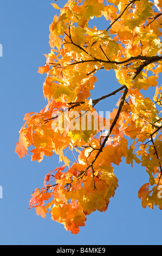
[[[105,213],[87,216],[85,227],[77,235],[62,224],[37,216],[28,209],[30,194],[41,187],[44,176],[59,165],[59,157],[45,157],[41,163],[30,156],[15,154],[18,131],[25,113],[40,112],[46,105],[42,85],[46,75],[37,73],[49,53],[49,24],[56,10],[50,0],[8,0],[0,4],[1,65],[1,164],[0,244],[1,245],[161,245],[161,211],[143,209],[138,190],[148,181],[145,168],[125,161],[115,166],[119,188]],[[56,2],[60,7],[64,0]],[[102,22],[102,21],[101,21]],[[99,23],[98,26],[103,26]],[[107,25],[106,25],[107,27]],[[93,99],[118,88],[112,71],[98,74]],[[98,111],[111,111],[118,97],[99,103]],[[104,109],[103,109],[104,108]]]

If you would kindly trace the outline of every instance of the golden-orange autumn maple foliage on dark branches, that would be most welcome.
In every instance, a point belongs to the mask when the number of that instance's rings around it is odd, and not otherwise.
[[[118,187],[114,166],[124,157],[126,164],[133,167],[135,161],[149,175],[139,189],[142,206],[162,209],[162,86],[157,81],[162,70],[162,2],[69,0],[62,9],[52,5],[60,15],[50,25],[46,65],[38,69],[47,74],[43,93],[48,104],[40,113],[25,114],[15,151],[21,158],[33,145],[32,161],[55,153],[64,163],[36,188],[30,208],[42,217],[50,212],[53,220],[77,234],[87,215],[107,210]],[[105,19],[104,30],[89,27],[100,17]],[[101,69],[107,77],[108,70],[114,70],[119,87],[90,99],[95,73]],[[151,87],[155,94],[144,97],[142,92]],[[95,105],[113,95],[119,95],[116,107],[108,119],[101,118]],[[87,126],[82,128],[84,115]],[[101,125],[96,127],[94,121]],[[76,151],[72,164],[67,149]]]

